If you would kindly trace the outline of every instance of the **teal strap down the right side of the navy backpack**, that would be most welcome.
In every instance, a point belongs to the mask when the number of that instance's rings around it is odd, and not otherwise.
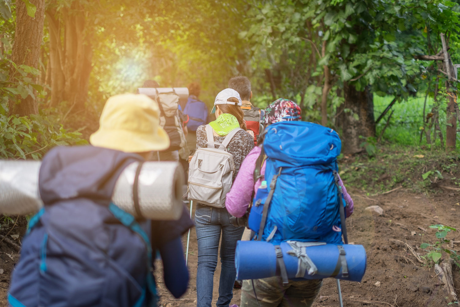
[[[156,301],[158,296],[156,294],[155,280],[152,275],[152,245],[150,244],[149,236],[147,235],[147,233],[144,232],[144,229],[142,229],[142,227],[136,221],[134,216],[132,216],[131,214],[120,209],[114,203],[109,204],[109,210],[110,212],[112,212],[115,218],[117,218],[121,222],[121,224],[123,224],[124,226],[127,226],[133,232],[136,232],[144,240],[145,247],[147,249],[147,256],[148,256],[147,287],[149,288],[150,293],[152,294],[152,296],[154,297],[154,300]],[[144,295],[141,295],[141,298],[143,296],[145,297],[145,293]]]

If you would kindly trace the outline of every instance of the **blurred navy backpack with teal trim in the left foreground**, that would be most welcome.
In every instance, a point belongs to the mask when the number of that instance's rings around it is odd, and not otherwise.
[[[57,147],[45,156],[45,206],[29,221],[10,306],[156,306],[150,221],[110,202],[121,171],[139,160],[92,146]]]

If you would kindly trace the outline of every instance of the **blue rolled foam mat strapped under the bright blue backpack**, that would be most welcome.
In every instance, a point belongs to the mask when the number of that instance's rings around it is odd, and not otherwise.
[[[288,278],[293,279],[297,273],[299,258],[288,255],[288,251],[292,250],[288,243],[282,242],[280,246]],[[360,282],[364,272],[366,272],[366,250],[362,245],[342,244],[342,246],[346,253],[348,277],[342,277],[342,269],[340,269],[335,278]],[[308,275],[305,272],[303,278],[320,279],[331,277],[339,259],[339,249],[336,244],[307,247],[306,253],[316,265],[318,271],[314,275]],[[275,245],[263,241],[238,241],[236,243],[235,266],[236,278],[239,280],[276,276]]]

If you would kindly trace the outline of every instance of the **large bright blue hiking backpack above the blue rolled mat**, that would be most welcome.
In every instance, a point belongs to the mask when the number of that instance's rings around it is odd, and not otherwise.
[[[286,240],[342,243],[345,210],[337,176],[339,135],[311,122],[277,122],[264,133],[254,176],[260,178],[257,173],[266,158],[267,184],[253,199],[249,228],[258,240],[275,244]]]

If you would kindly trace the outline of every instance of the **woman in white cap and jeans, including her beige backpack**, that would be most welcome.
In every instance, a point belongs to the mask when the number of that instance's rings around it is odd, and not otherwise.
[[[241,239],[244,227],[232,225],[232,216],[225,209],[225,194],[254,147],[253,137],[246,132],[241,104],[235,90],[224,89],[214,101],[212,113],[215,112],[216,120],[196,129],[197,149],[190,161],[189,199],[198,203],[195,212],[197,307],[211,306],[221,233],[217,307],[228,307],[233,297],[236,242]]]

